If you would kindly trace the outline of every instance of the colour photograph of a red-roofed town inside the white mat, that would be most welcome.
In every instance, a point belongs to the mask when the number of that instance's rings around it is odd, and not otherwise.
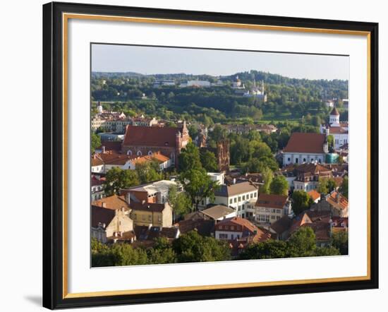
[[[92,267],[348,255],[348,56],[91,57]]]

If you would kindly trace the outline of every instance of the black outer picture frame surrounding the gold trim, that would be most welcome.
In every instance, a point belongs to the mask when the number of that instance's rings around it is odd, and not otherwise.
[[[353,30],[370,33],[370,280],[154,294],[63,296],[62,13]],[[43,6],[43,306],[74,308],[378,288],[378,24],[277,16],[51,2]]]

